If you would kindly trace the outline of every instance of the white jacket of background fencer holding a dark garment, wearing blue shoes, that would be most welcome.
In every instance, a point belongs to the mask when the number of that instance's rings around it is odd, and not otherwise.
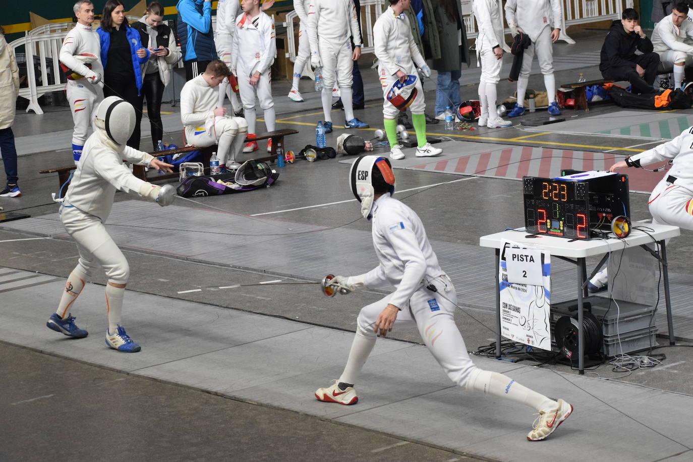
[[[561,0],[508,0],[505,3],[505,20],[510,28],[519,27],[532,42],[536,42],[546,26],[561,28],[561,3]]]

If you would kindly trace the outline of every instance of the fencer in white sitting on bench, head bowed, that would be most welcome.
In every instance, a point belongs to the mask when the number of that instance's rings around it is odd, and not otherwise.
[[[222,173],[240,166],[236,159],[248,127],[243,117],[229,117],[226,108],[217,105],[218,87],[230,72],[223,61],[213,60],[180,91],[180,119],[185,126],[186,143],[199,148],[218,144]]]

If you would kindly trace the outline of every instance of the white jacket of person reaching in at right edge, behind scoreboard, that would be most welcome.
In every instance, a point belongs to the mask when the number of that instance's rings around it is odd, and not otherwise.
[[[693,127],[687,128],[672,141],[660,144],[650,150],[639,152],[629,157],[631,161],[640,161],[643,166],[658,161],[674,159],[672,168],[665,177],[676,177],[674,184],[682,186],[693,193]]]

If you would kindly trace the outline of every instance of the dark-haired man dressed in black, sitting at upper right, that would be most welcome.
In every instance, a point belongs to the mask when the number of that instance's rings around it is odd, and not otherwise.
[[[608,80],[628,80],[633,93],[652,93],[657,76],[659,55],[653,53],[650,39],[638,25],[638,12],[623,10],[621,21],[613,21],[604,45],[599,71]],[[635,55],[635,49],[642,55]]]

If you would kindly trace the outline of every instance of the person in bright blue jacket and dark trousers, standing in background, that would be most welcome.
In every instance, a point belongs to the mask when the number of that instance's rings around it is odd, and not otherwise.
[[[185,79],[192,80],[217,59],[212,30],[211,0],[179,0],[178,37],[183,53]]]

